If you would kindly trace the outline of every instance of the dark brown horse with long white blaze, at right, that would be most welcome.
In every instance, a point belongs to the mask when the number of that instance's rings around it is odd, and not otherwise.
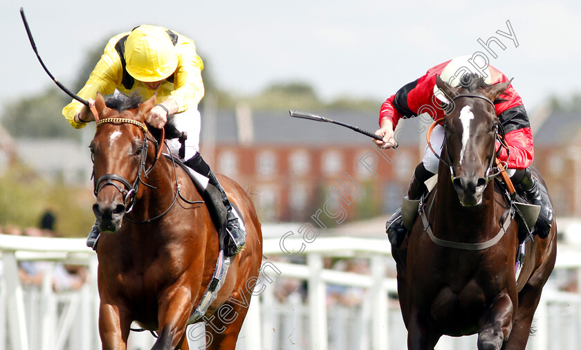
[[[480,350],[525,349],[528,341],[555,264],[556,225],[546,239],[526,244],[527,262],[516,280],[517,222],[505,215],[504,190],[489,181],[497,172],[499,125],[492,101],[508,84],[479,80],[454,88],[438,77],[454,103],[444,118],[441,160],[448,164],[440,163],[425,215],[403,245],[392,248],[409,349],[434,349],[441,335],[478,333]]]

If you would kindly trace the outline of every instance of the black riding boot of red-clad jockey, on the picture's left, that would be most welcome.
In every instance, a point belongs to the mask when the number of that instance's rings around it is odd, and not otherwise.
[[[417,215],[419,200],[424,192],[427,191],[424,182],[432,176],[434,174],[428,172],[423,163],[420,163],[414,170],[412,180],[409,181],[407,194],[403,199],[402,208],[396,210],[385,223],[385,232],[392,246],[399,247],[405,239],[405,236],[409,233],[409,230],[412,229],[411,226]],[[404,219],[406,219],[405,222],[408,223],[407,225],[404,224]],[[412,224],[409,224],[409,222]]]

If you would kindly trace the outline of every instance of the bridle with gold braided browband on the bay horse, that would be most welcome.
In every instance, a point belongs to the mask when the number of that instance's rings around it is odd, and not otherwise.
[[[138,122],[137,120],[133,120],[133,119],[127,119],[127,118],[105,118],[105,119],[101,119],[97,122],[97,125],[95,127],[95,129],[98,129],[101,125],[106,124],[106,123],[123,123],[123,124],[131,124],[131,125],[136,125],[137,127],[139,127],[141,129],[141,131],[143,132],[143,143],[142,143],[142,148],[141,148],[141,158],[140,158],[140,162],[139,162],[139,167],[137,170],[137,176],[135,181],[133,181],[133,183],[129,183],[129,181],[127,181],[126,178],[124,178],[123,176],[119,176],[117,174],[104,174],[103,176],[101,176],[98,179],[95,179],[95,169],[93,167],[93,195],[95,196],[95,198],[97,198],[100,190],[103,189],[103,187],[107,186],[107,185],[113,185],[114,187],[116,187],[117,190],[119,190],[119,192],[121,192],[122,196],[123,196],[123,204],[125,205],[125,212],[131,212],[131,210],[133,209],[133,204],[135,204],[135,199],[136,199],[136,194],[139,190],[139,185],[140,183],[143,183],[143,185],[146,185],[147,187],[152,187],[151,185],[148,185],[147,183],[145,183],[144,181],[142,181],[142,174],[145,174],[145,177],[147,177],[147,175],[149,175],[149,173],[151,172],[151,169],[153,169],[154,165],[157,163],[157,160],[160,156],[161,153],[161,147],[160,145],[163,143],[163,140],[165,138],[165,132],[162,130],[162,136],[160,138],[160,142],[158,142],[157,140],[155,140],[154,138],[149,138],[147,136],[147,125],[145,125],[142,122]],[[145,161],[147,160],[147,149],[149,146],[149,142],[154,143],[154,145],[156,146],[156,158],[154,158],[154,162],[151,163],[151,166],[149,167],[149,169],[145,169]],[[93,157],[91,156],[91,160]],[[118,181],[120,183],[122,183],[123,188],[120,187],[120,185],[118,185],[117,183],[113,182],[113,181]]]

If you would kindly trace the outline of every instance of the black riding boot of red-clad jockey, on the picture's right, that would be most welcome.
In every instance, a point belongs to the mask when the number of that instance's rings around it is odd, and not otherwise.
[[[535,223],[535,232],[541,238],[546,238],[551,230],[551,223],[555,219],[555,212],[551,200],[548,198],[546,187],[533,176],[533,172],[528,167],[519,169],[510,178],[515,185],[515,189],[529,203],[540,205],[541,212]]]

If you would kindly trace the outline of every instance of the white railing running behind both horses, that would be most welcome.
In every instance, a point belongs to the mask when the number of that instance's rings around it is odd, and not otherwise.
[[[281,244],[283,246],[281,246]],[[304,250],[302,248],[304,247]],[[291,257],[284,252],[300,251]],[[0,285],[0,349],[100,349],[98,339],[97,260],[84,246],[84,239],[15,237],[0,234],[3,278]],[[387,239],[311,237],[265,239],[260,283],[239,340],[239,349],[403,349],[405,328],[395,295],[394,262]],[[331,259],[365,259],[367,273],[325,267]],[[53,264],[87,266],[90,279],[80,291],[55,293],[50,273],[40,288],[24,288],[18,275],[19,261],[42,260]],[[296,262],[294,260],[298,260]],[[50,269],[48,269],[50,271]],[[581,281],[581,254],[562,248],[557,254],[555,278],[544,289],[537,308],[536,335],[527,349],[581,348],[581,297],[558,291],[559,279]],[[389,275],[389,277],[387,277]],[[275,297],[282,279],[306,282],[306,302],[297,293],[286,302]],[[358,306],[328,307],[327,288],[362,288],[365,297]],[[579,288],[577,288],[579,290]],[[259,303],[257,303],[259,301]],[[198,327],[198,328],[196,328]],[[190,326],[190,349],[203,349],[201,326]],[[8,331],[8,333],[7,333]],[[566,332],[566,333],[563,333]],[[551,347],[548,344],[551,334]],[[8,338],[8,339],[7,339]],[[557,340],[555,340],[557,338]],[[130,349],[147,349],[154,338],[149,333],[131,333]],[[475,347],[470,338],[443,337],[436,349]]]

